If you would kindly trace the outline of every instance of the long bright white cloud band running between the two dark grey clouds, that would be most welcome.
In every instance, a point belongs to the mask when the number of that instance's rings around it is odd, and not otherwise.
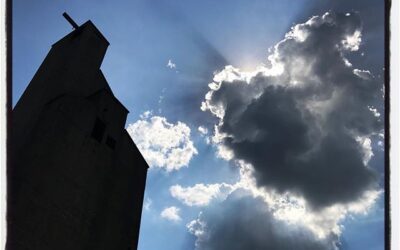
[[[366,214],[382,194],[381,190],[370,190],[364,192],[361,197],[352,202],[337,203],[315,210],[302,197],[288,192],[281,194],[271,189],[258,187],[250,164],[240,161],[239,169],[240,179],[236,183],[208,185],[200,183],[187,188],[178,186],[178,192],[173,197],[189,206],[204,204],[203,206],[207,210],[224,202],[232,193],[238,190],[241,190],[240,192],[245,191],[254,199],[260,199],[264,202],[269,213],[272,214],[271,219],[297,225],[313,234],[313,237],[326,240],[332,237],[339,238],[342,233],[340,222],[348,215]]]

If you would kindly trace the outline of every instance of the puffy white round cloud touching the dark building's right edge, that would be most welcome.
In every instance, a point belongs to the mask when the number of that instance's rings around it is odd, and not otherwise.
[[[150,116],[151,112],[144,112],[140,120],[127,128],[147,163],[167,172],[187,166],[197,154],[190,128],[183,122],[172,124],[165,117]]]

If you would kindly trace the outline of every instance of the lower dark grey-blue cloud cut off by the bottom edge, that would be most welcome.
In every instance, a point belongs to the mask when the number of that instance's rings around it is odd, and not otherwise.
[[[261,199],[243,190],[207,208],[188,224],[202,250],[335,249],[335,236],[316,239],[306,228],[274,219]]]

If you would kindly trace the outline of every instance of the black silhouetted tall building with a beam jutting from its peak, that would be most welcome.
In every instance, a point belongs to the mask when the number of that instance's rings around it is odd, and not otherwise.
[[[148,165],[91,22],[51,50],[11,117],[7,249],[136,249]]]

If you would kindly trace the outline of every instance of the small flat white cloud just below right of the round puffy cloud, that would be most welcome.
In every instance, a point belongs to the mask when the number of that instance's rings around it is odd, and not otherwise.
[[[223,199],[232,190],[233,186],[226,183],[196,184],[193,187],[174,185],[170,187],[172,197],[188,206],[207,206],[213,199]]]

